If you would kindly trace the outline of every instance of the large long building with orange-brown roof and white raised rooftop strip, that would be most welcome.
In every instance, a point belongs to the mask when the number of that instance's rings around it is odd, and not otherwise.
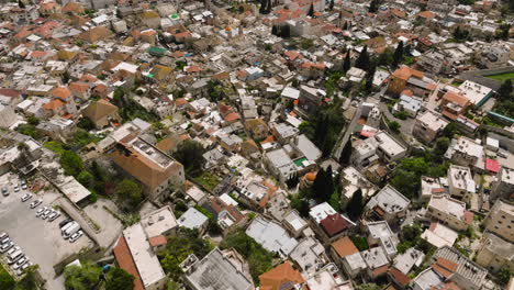
[[[146,141],[130,134],[109,154],[113,163],[143,186],[143,192],[157,199],[170,185],[186,180],[183,166]]]

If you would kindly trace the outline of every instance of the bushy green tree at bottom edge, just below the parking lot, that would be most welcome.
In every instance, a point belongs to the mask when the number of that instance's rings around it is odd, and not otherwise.
[[[65,268],[65,287],[72,290],[94,289],[100,282],[102,268],[92,261],[82,263],[81,266],[68,266]]]

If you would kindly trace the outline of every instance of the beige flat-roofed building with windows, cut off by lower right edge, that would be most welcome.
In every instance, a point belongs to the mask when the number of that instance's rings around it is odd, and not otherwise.
[[[511,243],[514,243],[514,204],[505,200],[496,200],[483,221],[485,228]]]

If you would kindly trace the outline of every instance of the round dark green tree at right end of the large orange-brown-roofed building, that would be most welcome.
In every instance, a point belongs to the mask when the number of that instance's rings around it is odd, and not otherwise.
[[[202,171],[203,164],[205,163],[202,156],[203,152],[202,144],[187,140],[177,146],[175,157],[183,165],[187,172],[198,174]]]

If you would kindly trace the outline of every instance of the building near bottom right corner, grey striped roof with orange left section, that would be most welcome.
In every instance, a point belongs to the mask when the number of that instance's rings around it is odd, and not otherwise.
[[[479,290],[487,281],[488,270],[471,261],[452,247],[442,247],[436,250],[434,258],[437,269],[445,274],[449,281],[461,289]]]

